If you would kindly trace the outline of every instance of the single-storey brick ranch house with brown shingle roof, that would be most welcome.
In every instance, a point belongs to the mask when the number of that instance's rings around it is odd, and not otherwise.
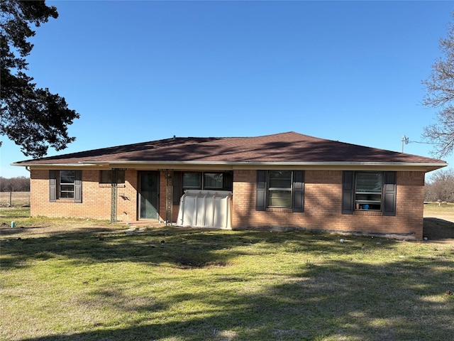
[[[287,132],[174,137],[13,166],[31,171],[33,217],[177,223],[183,212],[191,225],[212,214],[203,210],[222,210],[223,228],[421,239],[424,175],[447,163]],[[184,193],[193,194],[179,210]],[[216,193],[227,204],[201,208]]]

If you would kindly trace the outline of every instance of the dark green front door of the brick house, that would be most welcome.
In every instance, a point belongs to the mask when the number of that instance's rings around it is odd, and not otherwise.
[[[139,173],[139,219],[158,219],[159,173]]]

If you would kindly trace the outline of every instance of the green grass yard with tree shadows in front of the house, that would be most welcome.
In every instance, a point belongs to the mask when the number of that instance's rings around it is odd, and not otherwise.
[[[454,340],[453,240],[0,213],[0,340]]]

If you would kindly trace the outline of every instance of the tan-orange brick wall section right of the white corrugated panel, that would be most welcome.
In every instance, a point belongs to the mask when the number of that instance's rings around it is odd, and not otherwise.
[[[305,182],[304,212],[256,211],[256,172],[236,171],[232,227],[303,227],[365,234],[409,234],[409,237],[422,238],[423,172],[397,172],[397,210],[393,217],[364,211],[342,215],[342,171],[306,171]]]

